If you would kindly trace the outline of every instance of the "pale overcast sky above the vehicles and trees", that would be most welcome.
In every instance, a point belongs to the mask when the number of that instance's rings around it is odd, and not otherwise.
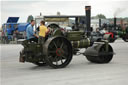
[[[34,17],[39,15],[55,15],[61,12],[62,15],[84,15],[84,7],[92,6],[92,16],[104,14],[107,18],[113,17],[116,13],[117,17],[128,17],[128,1],[127,0],[2,0],[0,23],[5,23],[10,16],[20,17],[19,22],[26,22],[28,15]]]

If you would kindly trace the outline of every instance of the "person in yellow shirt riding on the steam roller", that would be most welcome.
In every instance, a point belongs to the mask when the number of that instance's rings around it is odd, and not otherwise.
[[[39,27],[39,43],[41,43],[41,44],[44,43],[47,32],[48,32],[48,29],[45,26],[45,22],[41,21],[40,27]]]

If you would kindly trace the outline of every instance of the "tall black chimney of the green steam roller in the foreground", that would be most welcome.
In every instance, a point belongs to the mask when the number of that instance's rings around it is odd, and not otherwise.
[[[85,6],[86,10],[86,27],[87,27],[87,36],[90,36],[91,33],[91,6]]]

